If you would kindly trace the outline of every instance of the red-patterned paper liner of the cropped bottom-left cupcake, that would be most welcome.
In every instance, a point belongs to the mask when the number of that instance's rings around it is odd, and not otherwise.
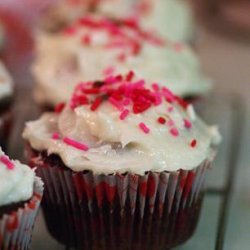
[[[0,218],[0,249],[28,249],[43,194],[40,178],[35,179],[32,198],[23,207]]]

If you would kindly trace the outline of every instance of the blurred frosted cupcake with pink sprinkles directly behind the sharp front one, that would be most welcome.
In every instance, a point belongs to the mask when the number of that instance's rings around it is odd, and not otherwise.
[[[54,107],[69,100],[79,81],[130,69],[184,98],[202,96],[211,87],[187,45],[162,39],[130,19],[91,15],[59,34],[37,37],[32,66],[35,99],[41,106]]]

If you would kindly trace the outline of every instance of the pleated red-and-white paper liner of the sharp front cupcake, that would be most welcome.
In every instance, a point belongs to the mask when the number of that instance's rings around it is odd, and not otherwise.
[[[210,160],[193,170],[135,174],[76,173],[30,155],[45,183],[47,227],[59,242],[84,249],[166,249],[198,222]]]

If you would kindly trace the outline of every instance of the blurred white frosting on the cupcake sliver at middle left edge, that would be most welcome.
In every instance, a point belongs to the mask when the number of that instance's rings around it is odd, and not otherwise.
[[[13,94],[13,81],[5,68],[4,64],[0,61],[0,99],[11,96]]]

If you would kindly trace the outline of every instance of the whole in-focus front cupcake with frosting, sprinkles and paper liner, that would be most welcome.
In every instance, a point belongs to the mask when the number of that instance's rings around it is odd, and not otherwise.
[[[84,249],[167,249],[196,227],[219,142],[191,105],[130,71],[26,123],[50,233]]]

